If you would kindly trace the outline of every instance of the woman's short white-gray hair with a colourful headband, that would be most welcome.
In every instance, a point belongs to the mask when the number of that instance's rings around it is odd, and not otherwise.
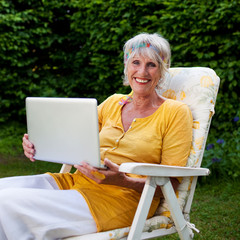
[[[156,88],[161,88],[165,73],[170,68],[171,50],[168,41],[161,35],[154,33],[140,33],[129,39],[123,47],[124,50],[124,80],[123,85],[129,86],[127,70],[129,61],[135,55],[149,57],[158,62],[161,79]]]

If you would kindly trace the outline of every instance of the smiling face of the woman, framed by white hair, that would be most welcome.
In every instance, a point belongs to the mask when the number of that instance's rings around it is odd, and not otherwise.
[[[142,96],[151,95],[161,78],[159,63],[142,55],[135,55],[129,61],[127,76],[133,92]]]

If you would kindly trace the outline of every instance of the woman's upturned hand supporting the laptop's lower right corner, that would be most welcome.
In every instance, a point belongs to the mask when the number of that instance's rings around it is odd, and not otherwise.
[[[104,159],[104,164],[108,169],[98,169],[87,163],[74,165],[74,167],[98,184],[123,186],[123,183],[126,180],[126,175],[125,173],[119,172],[119,166],[107,158]]]

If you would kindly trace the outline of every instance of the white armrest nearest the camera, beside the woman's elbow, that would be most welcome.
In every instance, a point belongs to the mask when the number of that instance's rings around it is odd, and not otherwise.
[[[210,170],[207,168],[179,167],[151,163],[123,163],[120,172],[154,177],[188,177],[207,176]]]

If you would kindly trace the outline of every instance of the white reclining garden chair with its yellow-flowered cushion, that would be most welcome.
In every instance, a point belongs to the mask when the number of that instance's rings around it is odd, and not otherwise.
[[[120,171],[146,175],[147,180],[131,227],[75,236],[68,240],[153,239],[178,232],[180,239],[192,239],[190,209],[198,176],[206,176],[208,169],[200,168],[220,79],[209,68],[171,68],[166,85],[159,91],[166,98],[186,103],[193,114],[193,141],[186,167],[145,163],[124,163]],[[70,171],[63,165],[61,172]],[[176,193],[170,177],[183,177]],[[156,186],[160,185],[164,199],[155,216],[146,220]]]

